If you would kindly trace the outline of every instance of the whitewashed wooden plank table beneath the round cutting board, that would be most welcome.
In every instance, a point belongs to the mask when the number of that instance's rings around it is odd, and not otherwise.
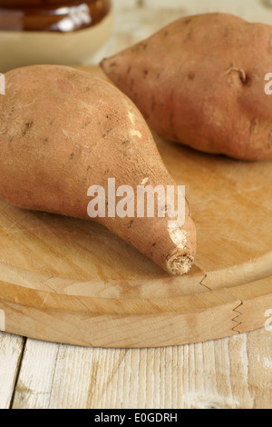
[[[182,15],[220,11],[272,25],[272,7],[263,3],[269,0],[115,0],[112,38],[93,63]],[[0,408],[271,406],[272,332],[265,327],[215,342],[141,350],[87,349],[0,333]]]

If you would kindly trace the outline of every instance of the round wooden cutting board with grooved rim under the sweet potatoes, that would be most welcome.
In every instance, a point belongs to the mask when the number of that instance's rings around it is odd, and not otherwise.
[[[170,173],[186,185],[198,230],[192,271],[170,277],[99,224],[0,200],[0,329],[131,348],[265,325],[272,309],[272,163],[201,154],[154,137]]]

